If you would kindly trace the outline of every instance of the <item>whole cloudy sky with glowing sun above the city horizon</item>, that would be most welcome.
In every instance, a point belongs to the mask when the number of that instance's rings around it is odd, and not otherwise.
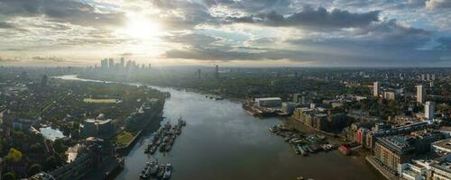
[[[0,65],[451,67],[451,0],[0,0]]]

